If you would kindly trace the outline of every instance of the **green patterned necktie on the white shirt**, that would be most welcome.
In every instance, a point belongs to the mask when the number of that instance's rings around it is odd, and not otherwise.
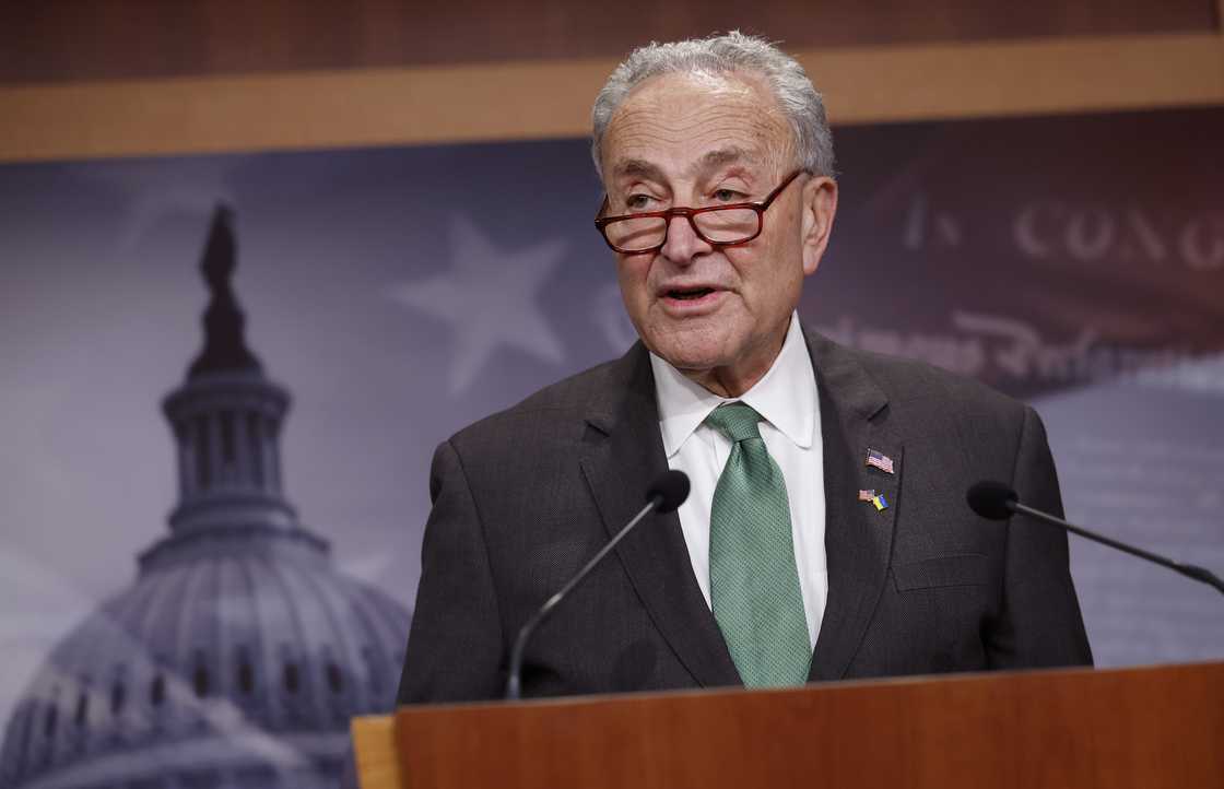
[[[794,566],[782,470],[765,448],[761,416],[743,402],[706,424],[731,439],[710,511],[710,602],[748,687],[802,685],[812,647]]]

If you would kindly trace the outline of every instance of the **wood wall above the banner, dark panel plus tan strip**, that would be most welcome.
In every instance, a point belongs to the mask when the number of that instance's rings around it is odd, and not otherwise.
[[[577,137],[634,44],[783,39],[834,124],[1224,105],[1224,0],[44,0],[0,6],[0,161]]]

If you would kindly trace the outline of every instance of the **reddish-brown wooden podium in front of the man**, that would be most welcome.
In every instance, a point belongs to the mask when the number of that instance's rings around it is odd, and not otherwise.
[[[404,707],[362,789],[1224,788],[1224,663]]]

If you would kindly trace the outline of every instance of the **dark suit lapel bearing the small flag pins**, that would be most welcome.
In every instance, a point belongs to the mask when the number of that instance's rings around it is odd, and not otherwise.
[[[887,398],[845,349],[808,334],[820,396],[829,599],[809,681],[846,675],[884,591],[900,505],[902,446],[885,427]],[[867,465],[875,450],[892,473]],[[883,495],[879,510],[860,491]]]

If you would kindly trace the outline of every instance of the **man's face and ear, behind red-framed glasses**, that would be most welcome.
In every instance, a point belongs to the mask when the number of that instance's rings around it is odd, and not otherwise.
[[[752,75],[665,75],[639,86],[602,148],[607,215],[760,201],[793,170],[791,132]],[[657,252],[617,254],[625,309],[646,347],[699,380],[750,387],[772,363],[836,209],[830,179],[800,175],[761,234],[714,247],[673,218]],[[745,388],[747,388],[745,387]]]

